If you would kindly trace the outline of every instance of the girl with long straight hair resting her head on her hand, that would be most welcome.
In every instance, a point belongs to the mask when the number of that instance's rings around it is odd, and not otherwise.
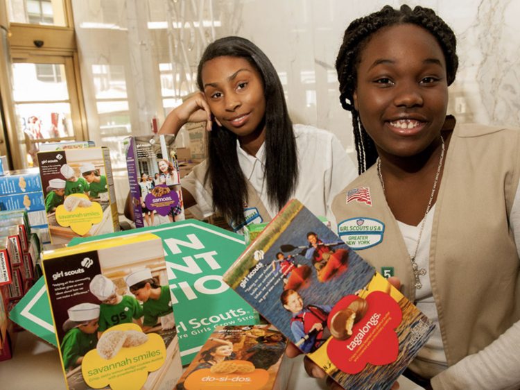
[[[184,207],[223,214],[235,231],[268,222],[291,198],[330,219],[330,202],[356,177],[331,133],[293,125],[277,71],[249,40],[225,37],[198,65],[200,93],[175,108],[160,133],[207,121],[208,158],[184,179]],[[315,158],[319,156],[319,158]]]

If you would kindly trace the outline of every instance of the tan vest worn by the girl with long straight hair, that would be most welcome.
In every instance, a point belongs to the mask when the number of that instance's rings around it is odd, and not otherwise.
[[[210,196],[212,196],[213,191],[211,190],[211,185],[205,182],[205,176],[207,172],[207,160],[202,161],[196,167],[193,168],[193,174],[196,179],[204,185],[204,188],[208,192]],[[235,232],[239,232],[243,226],[249,225],[250,223],[267,223],[271,221],[271,217],[266,209],[266,206],[263,205],[260,197],[257,194],[257,191],[254,189],[249,180],[245,180],[248,184],[248,202],[247,204],[244,202],[244,218],[245,223],[242,225],[237,225],[234,221],[227,221],[229,225],[233,228]],[[217,210],[218,211],[218,210]]]

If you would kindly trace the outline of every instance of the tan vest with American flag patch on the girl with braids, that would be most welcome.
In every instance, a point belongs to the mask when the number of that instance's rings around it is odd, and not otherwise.
[[[450,366],[491,344],[520,319],[520,261],[508,223],[519,176],[519,129],[457,125],[453,130],[427,273]],[[360,189],[365,198],[357,196]],[[367,221],[382,228],[374,230],[380,241],[370,237],[367,248],[357,252],[378,272],[394,267],[401,292],[413,302],[410,258],[375,165],[334,198],[332,211],[344,240],[358,220],[356,225]]]

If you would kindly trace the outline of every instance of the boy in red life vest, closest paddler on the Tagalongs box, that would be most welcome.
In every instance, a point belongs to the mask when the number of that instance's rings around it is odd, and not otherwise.
[[[293,313],[291,331],[297,341],[296,346],[304,353],[314,352],[331,336],[327,328],[327,318],[332,306],[304,307],[302,297],[293,289],[286,289],[281,293],[280,300],[284,309]]]

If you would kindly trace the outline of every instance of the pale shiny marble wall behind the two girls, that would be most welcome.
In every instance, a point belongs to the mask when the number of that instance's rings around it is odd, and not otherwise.
[[[128,192],[122,139],[150,132],[196,90],[205,46],[252,40],[275,65],[296,123],[330,130],[353,153],[333,67],[343,31],[386,3],[367,0],[73,0],[89,135],[110,146],[118,197]],[[424,0],[458,37],[449,112],[462,122],[520,126],[520,0]],[[180,142],[182,143],[182,135]],[[352,154],[353,155],[353,154]],[[354,158],[355,160],[355,158]],[[120,203],[121,205],[121,203]],[[121,209],[122,210],[122,209]]]

